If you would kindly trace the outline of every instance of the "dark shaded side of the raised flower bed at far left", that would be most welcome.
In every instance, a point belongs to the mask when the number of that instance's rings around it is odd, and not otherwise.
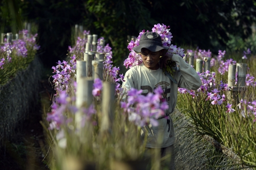
[[[26,70],[0,87],[0,141],[8,139],[15,128],[33,113],[39,96],[41,63],[37,57]]]

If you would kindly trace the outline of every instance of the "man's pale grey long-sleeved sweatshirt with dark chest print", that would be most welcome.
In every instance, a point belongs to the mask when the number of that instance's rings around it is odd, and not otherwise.
[[[173,81],[165,76],[162,69],[150,70],[143,64],[137,65],[129,69],[124,78],[122,88],[129,90],[131,88],[143,89],[142,94],[146,95],[149,92],[153,92],[155,88],[161,87],[164,92],[162,97],[169,104],[169,109],[166,110],[166,115],[173,113],[177,102],[178,87],[186,89],[198,89],[201,86],[201,80],[197,72],[191,67],[190,64],[185,63],[183,58],[174,54],[172,60],[179,66],[174,73]],[[169,119],[169,120],[168,120]],[[142,128],[141,136],[144,136],[147,132],[146,147],[148,148],[165,148],[174,144],[174,125],[170,116],[166,118],[158,119],[158,126],[148,125]],[[149,130],[151,132],[149,132]]]

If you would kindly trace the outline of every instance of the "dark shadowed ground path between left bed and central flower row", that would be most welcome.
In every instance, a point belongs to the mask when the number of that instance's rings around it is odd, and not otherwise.
[[[37,108],[18,125],[15,134],[1,144],[0,170],[49,170],[45,159],[49,148],[46,148],[40,124],[44,108],[49,108],[50,98],[55,93],[48,78],[48,74],[42,77]]]

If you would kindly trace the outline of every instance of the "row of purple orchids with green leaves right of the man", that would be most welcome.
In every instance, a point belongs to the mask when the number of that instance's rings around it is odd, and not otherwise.
[[[192,52],[193,50],[188,50]],[[212,57],[211,52],[195,50],[195,57]],[[256,167],[256,81],[254,68],[255,56],[250,50],[236,59],[247,63],[245,88],[239,87],[237,79],[233,87],[229,87],[228,70],[230,64],[238,63],[232,56],[225,56],[225,51],[211,58],[211,71],[201,76],[202,85],[197,90],[178,89],[177,106],[186,116],[192,118],[192,127],[199,134],[207,134],[219,143],[237,153],[238,164]],[[226,58],[226,59],[225,59]],[[205,79],[205,77],[208,77]],[[237,73],[236,73],[237,78]]]

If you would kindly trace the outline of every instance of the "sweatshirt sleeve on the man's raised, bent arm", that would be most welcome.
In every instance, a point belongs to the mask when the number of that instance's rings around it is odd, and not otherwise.
[[[185,89],[198,89],[202,85],[199,75],[183,58],[174,54],[172,60],[179,65],[179,70],[174,75],[178,87]]]

